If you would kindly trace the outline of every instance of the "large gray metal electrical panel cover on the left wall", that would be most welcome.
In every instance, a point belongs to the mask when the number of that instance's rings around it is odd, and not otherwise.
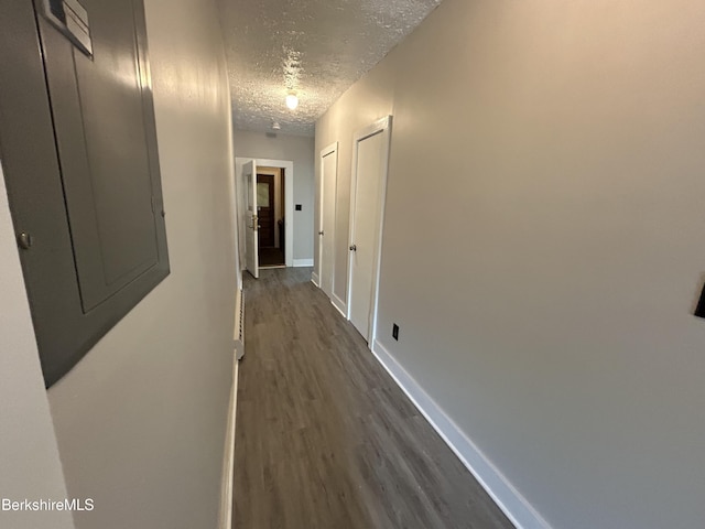
[[[48,387],[169,274],[144,8],[6,3],[0,156]]]

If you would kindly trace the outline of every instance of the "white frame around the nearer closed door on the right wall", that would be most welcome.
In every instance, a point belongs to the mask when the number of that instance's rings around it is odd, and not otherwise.
[[[386,116],[378,119],[372,125],[358,130],[352,136],[352,170],[350,171],[350,219],[349,219],[349,234],[348,246],[352,245],[355,240],[355,203],[357,201],[357,158],[359,144],[362,140],[381,133],[383,138],[382,156],[384,159],[384,171],[382,173],[382,181],[380,182],[380,197],[378,218],[379,225],[377,229],[377,245],[375,248],[373,270],[372,270],[372,296],[370,301],[370,331],[369,336],[365,336],[370,347],[375,343],[377,335],[377,301],[379,294],[379,269],[382,260],[382,229],[384,227],[384,205],[387,202],[387,177],[389,175],[389,147],[391,141],[392,131],[392,117]],[[352,295],[352,252],[348,251],[348,290],[347,290],[347,319],[350,320],[350,296]]]

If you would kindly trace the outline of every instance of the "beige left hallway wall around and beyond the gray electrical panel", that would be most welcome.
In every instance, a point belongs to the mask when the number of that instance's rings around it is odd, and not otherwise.
[[[147,0],[171,276],[50,391],[79,529],[215,528],[232,384],[230,97],[215,4]]]

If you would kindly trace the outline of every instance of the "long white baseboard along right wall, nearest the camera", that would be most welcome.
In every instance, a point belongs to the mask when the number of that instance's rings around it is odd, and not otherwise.
[[[551,529],[519,490],[378,341],[373,343],[372,354],[517,529]]]

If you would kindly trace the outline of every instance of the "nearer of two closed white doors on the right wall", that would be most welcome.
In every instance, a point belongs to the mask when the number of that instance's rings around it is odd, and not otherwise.
[[[356,134],[350,223],[348,317],[370,343],[375,338],[383,205],[391,117]]]

